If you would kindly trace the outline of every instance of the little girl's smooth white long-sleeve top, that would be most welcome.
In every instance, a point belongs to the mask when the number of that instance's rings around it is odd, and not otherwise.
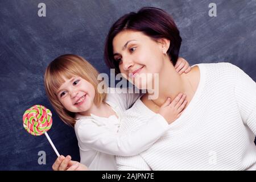
[[[168,123],[160,114],[148,119],[129,134],[119,134],[122,113],[129,109],[140,94],[121,93],[121,89],[109,88],[106,103],[117,114],[109,118],[91,114],[76,114],[75,133],[79,144],[80,162],[90,170],[117,170],[114,155],[131,156],[150,147],[168,129]]]

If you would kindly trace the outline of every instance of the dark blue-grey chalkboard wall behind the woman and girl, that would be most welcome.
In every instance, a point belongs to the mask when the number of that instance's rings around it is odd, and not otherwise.
[[[46,4],[46,17],[38,4]],[[210,17],[209,3],[217,5]],[[48,131],[57,150],[80,160],[75,132],[57,117],[44,91],[44,71],[55,57],[75,53],[99,72],[109,74],[103,60],[104,40],[115,20],[143,6],[170,13],[183,42],[180,56],[189,63],[229,62],[256,80],[256,1],[0,1],[0,169],[51,170],[56,154],[47,138],[28,134],[22,115],[35,104],[53,112]],[[46,164],[38,164],[38,152]]]

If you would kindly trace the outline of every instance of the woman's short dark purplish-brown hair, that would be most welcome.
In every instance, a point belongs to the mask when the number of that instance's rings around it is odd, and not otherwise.
[[[104,57],[109,68],[115,68],[115,73],[120,73],[118,62],[113,56],[113,39],[123,30],[143,32],[156,40],[166,38],[170,40],[170,48],[167,55],[175,65],[179,57],[181,37],[172,17],[165,11],[156,7],[143,7],[138,13],[131,12],[123,15],[113,24],[106,37]]]

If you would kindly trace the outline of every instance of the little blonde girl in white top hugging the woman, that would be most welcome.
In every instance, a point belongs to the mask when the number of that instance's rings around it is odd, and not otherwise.
[[[177,72],[189,70],[187,61],[179,59]],[[82,57],[62,55],[48,65],[44,83],[49,101],[61,120],[75,127],[81,163],[91,170],[116,170],[114,155],[136,155],[150,147],[167,131],[168,124],[180,116],[186,104],[185,95],[179,94],[172,102],[167,99],[159,113],[141,129],[121,134],[118,127],[122,113],[141,94],[112,93],[118,88],[106,88],[100,93],[97,76],[96,69]],[[73,164],[70,156],[64,159],[64,156],[58,158],[53,169],[65,170]]]

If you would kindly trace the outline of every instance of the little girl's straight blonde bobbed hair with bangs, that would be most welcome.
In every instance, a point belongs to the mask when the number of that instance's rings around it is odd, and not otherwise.
[[[56,110],[60,119],[69,126],[74,127],[76,123],[75,113],[68,111],[59,101],[57,90],[64,83],[64,78],[71,79],[73,76],[80,76],[90,82],[95,89],[94,104],[100,105],[105,101],[106,92],[99,93],[97,86],[98,71],[88,61],[77,55],[61,55],[53,60],[46,68],[44,74],[44,86],[46,93],[53,108]],[[106,88],[105,88],[106,89]]]

